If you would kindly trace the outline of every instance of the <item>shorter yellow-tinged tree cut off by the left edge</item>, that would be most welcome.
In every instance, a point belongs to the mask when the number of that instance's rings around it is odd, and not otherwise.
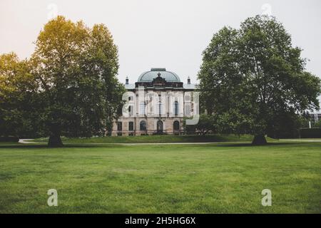
[[[29,61],[0,55],[0,136],[37,135],[36,88]]]

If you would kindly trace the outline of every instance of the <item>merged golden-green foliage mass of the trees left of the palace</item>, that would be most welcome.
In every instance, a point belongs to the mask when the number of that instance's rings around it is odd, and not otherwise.
[[[0,56],[2,135],[103,135],[122,106],[118,50],[106,26],[58,16],[39,33],[29,61]]]

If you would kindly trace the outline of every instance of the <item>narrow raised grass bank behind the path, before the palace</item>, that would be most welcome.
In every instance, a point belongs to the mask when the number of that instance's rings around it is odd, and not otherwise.
[[[65,143],[143,143],[143,142],[251,142],[252,135],[141,135],[93,138],[61,138]],[[272,140],[268,138],[268,140]],[[34,142],[48,142],[39,138]]]

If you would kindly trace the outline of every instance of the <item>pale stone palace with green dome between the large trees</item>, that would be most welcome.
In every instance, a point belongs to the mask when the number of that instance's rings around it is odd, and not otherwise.
[[[198,114],[195,84],[180,81],[165,68],[151,68],[136,83],[126,78],[123,115],[113,123],[112,135],[183,133],[183,118]]]

